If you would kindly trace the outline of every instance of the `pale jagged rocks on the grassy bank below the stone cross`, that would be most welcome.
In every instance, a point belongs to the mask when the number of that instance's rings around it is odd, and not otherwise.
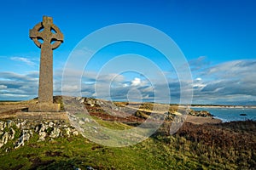
[[[53,140],[60,137],[70,138],[79,132],[68,122],[2,120],[0,121],[0,148],[5,144],[17,149],[35,136],[38,142]]]

